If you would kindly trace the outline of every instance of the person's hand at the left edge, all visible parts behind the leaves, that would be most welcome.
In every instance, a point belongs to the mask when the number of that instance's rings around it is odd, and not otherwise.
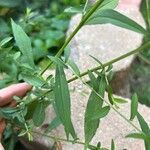
[[[27,83],[14,84],[9,87],[0,90],[0,107],[10,106],[14,107],[16,105],[13,101],[14,96],[23,97],[25,94],[30,91],[32,88],[31,85]],[[6,127],[5,120],[0,118],[0,141],[3,131]],[[0,150],[4,150],[3,146],[0,143]]]

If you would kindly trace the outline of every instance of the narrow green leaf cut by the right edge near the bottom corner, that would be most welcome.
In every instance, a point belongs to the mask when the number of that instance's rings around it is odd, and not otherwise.
[[[139,121],[139,124],[140,124],[140,127],[141,127],[142,131],[146,135],[150,136],[149,126],[146,123],[146,121],[144,120],[144,118],[140,115],[140,113],[137,113],[137,118],[138,118],[138,121]],[[150,149],[150,142],[148,142],[147,140],[146,141],[144,140],[144,143],[145,143],[145,149],[149,150]]]

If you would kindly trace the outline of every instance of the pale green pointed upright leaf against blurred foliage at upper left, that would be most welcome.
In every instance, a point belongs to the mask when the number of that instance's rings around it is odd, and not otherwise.
[[[23,29],[19,25],[17,25],[13,20],[11,20],[11,25],[16,44],[22,52],[25,58],[25,62],[28,63],[31,67],[35,68],[33,51],[29,37],[23,31]]]

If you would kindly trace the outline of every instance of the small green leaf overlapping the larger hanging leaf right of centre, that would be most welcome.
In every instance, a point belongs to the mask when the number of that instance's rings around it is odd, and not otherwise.
[[[110,107],[109,106],[106,106],[106,107],[103,107],[100,109],[100,111],[95,114],[93,116],[93,118],[91,118],[91,120],[97,120],[97,119],[101,119],[101,118],[104,118],[105,116],[107,116],[107,114],[109,113],[110,111]]]

